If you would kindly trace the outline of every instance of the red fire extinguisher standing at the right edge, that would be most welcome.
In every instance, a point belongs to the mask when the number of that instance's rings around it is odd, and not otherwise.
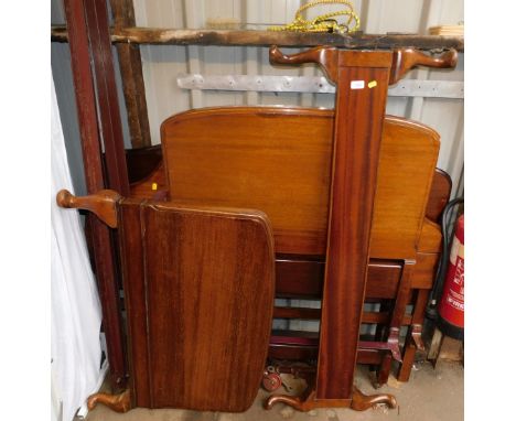
[[[438,305],[439,330],[455,339],[464,339],[464,215],[455,224],[447,279]]]

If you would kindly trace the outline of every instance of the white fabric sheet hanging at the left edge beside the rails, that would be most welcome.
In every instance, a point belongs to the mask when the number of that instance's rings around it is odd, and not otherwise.
[[[61,188],[73,192],[54,80],[52,80],[51,346],[53,389],[63,421],[96,391],[100,380],[100,302],[78,212],[55,203]]]

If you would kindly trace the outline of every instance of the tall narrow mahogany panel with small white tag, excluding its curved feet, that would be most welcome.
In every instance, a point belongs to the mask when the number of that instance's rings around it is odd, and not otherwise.
[[[390,52],[340,51],[318,399],[351,399]]]

